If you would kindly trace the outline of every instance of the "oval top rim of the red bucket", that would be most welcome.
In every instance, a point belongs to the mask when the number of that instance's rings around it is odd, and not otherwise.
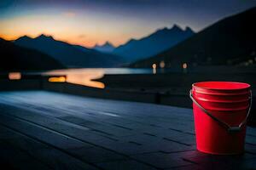
[[[220,88],[220,87],[215,87],[215,88],[209,88],[209,87],[202,87],[202,86],[199,86],[201,84],[212,84],[212,83],[225,83],[226,85],[229,84],[236,84],[236,85],[241,85],[241,86],[244,86],[244,87],[234,87],[234,88]],[[192,84],[192,87],[193,88],[202,88],[202,89],[207,89],[207,90],[227,90],[227,91],[232,91],[232,90],[243,90],[243,89],[248,89],[248,88],[251,88],[251,85],[246,83],[246,82],[222,82],[222,81],[207,81],[207,82],[194,82]]]

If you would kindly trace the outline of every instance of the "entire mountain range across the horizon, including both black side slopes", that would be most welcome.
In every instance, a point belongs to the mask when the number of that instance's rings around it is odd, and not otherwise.
[[[174,25],[155,31],[148,37],[131,39],[117,48],[110,42],[85,48],[42,34],[35,38],[20,37],[14,42],[1,39],[1,49],[2,54],[10,56],[9,59],[19,61],[20,65],[15,64],[17,69],[26,69],[22,66],[26,64],[27,69],[39,70],[63,68],[63,65],[118,67],[126,61],[134,62],[132,67],[151,67],[163,61],[166,67],[181,67],[183,63],[189,66],[238,65],[256,60],[255,16],[256,8],[251,8],[219,20],[198,33],[189,27],[183,30]],[[38,60],[42,64],[37,63]],[[7,59],[7,65],[3,63],[3,68],[6,66],[7,69],[11,60]]]

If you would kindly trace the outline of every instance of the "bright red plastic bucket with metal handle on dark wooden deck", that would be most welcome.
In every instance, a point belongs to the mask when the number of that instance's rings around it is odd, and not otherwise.
[[[197,150],[217,155],[241,154],[251,96],[250,85],[243,82],[194,83],[190,98]]]

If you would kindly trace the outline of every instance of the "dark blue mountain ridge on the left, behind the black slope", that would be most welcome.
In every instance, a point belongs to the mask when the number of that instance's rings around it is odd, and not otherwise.
[[[20,37],[15,40],[15,44],[49,54],[67,67],[114,67],[123,62],[119,56],[56,41],[44,34],[36,38]]]

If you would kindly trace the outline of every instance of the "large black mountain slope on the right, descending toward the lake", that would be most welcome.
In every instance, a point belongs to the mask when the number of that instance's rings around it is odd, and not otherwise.
[[[256,8],[219,20],[195,36],[178,43],[163,53],[142,59],[131,66],[151,67],[165,61],[166,65],[239,65],[252,62],[256,53]],[[253,59],[253,60],[252,60]]]

